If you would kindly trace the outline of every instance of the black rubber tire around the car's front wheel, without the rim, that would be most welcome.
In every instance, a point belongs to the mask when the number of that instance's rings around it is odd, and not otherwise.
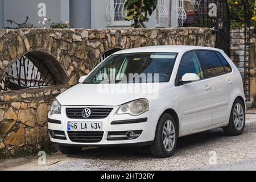
[[[166,121],[168,120],[170,120],[173,123],[175,128],[175,139],[174,139],[175,143],[171,151],[168,151],[164,147],[164,143],[163,143],[163,127]],[[154,143],[150,146],[151,154],[157,158],[168,158],[172,156],[174,154],[176,144],[177,144],[177,136],[178,136],[177,134],[178,134],[178,131],[177,131],[175,119],[172,117],[171,114],[164,113],[159,118],[158,125],[156,126],[155,140],[154,140]]]

